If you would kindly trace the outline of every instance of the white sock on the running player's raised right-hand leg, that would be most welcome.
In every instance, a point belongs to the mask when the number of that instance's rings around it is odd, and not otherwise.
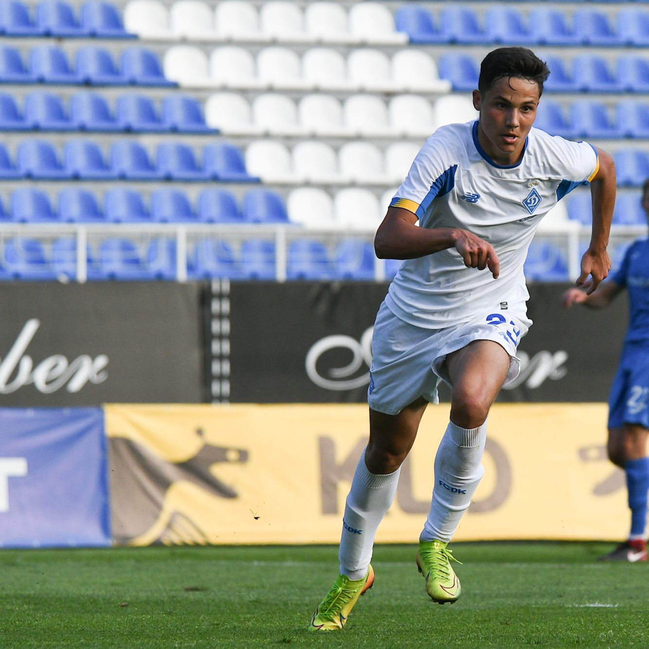
[[[478,428],[448,422],[435,456],[433,500],[420,541],[450,541],[484,474],[486,441],[486,421]]]

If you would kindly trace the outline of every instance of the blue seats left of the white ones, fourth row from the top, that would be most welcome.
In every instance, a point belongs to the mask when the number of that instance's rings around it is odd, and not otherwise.
[[[158,145],[154,164],[147,149],[132,140],[113,143],[107,162],[91,140],[68,141],[61,160],[54,145],[34,138],[19,143],[15,166],[0,145],[0,178],[259,181],[247,173],[238,147],[226,142],[203,147],[201,162],[189,145],[165,142]]]

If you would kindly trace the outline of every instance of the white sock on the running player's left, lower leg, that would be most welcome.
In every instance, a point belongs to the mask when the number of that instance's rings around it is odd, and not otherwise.
[[[374,536],[395,499],[400,471],[401,467],[385,475],[370,473],[365,466],[365,451],[361,455],[347,496],[338,550],[340,573],[351,580],[363,579],[367,574]]]

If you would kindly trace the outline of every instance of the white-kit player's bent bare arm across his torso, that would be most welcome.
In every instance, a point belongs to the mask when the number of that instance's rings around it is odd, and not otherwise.
[[[489,268],[494,278],[500,274],[500,261],[493,246],[461,228],[419,228],[417,216],[399,207],[387,209],[386,217],[374,238],[379,259],[415,259],[455,248],[467,268]]]

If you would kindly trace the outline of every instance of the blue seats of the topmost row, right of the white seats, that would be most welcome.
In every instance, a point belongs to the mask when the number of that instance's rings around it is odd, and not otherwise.
[[[434,13],[407,4],[397,9],[394,18],[397,30],[406,32],[411,43],[649,45],[649,11],[635,7],[620,9],[611,19],[606,12],[592,8],[569,12],[537,6],[526,12],[500,3],[489,6],[481,16],[471,6],[449,3]]]

